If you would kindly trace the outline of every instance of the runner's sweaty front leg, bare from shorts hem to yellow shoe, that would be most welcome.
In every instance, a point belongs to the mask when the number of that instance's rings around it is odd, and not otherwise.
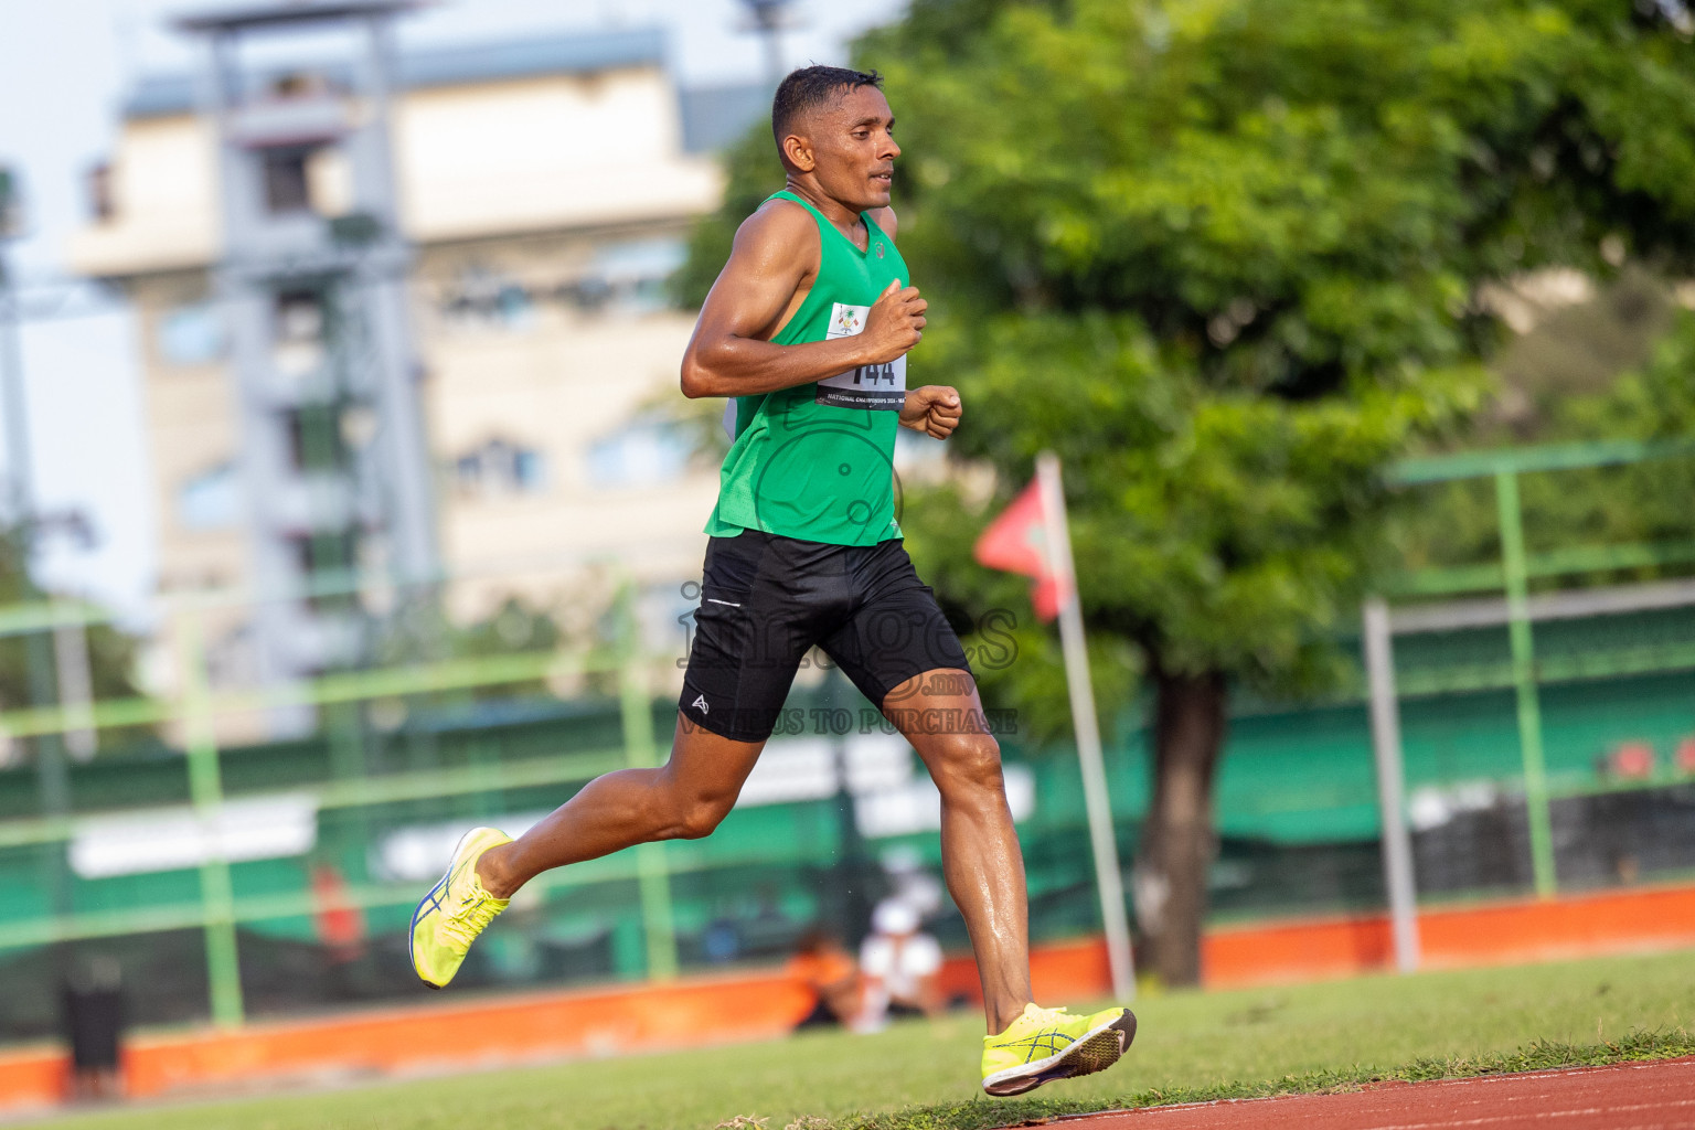
[[[883,715],[942,795],[942,876],[976,952],[988,1032],[1005,1032],[1031,1003],[1029,903],[1000,744],[983,725],[976,681],[968,671],[925,671],[888,693]]]

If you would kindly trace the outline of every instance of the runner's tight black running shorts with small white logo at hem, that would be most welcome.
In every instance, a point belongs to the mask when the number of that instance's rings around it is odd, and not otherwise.
[[[678,708],[714,734],[763,742],[814,645],[878,706],[915,674],[971,669],[898,537],[829,546],[746,530],[707,544]]]

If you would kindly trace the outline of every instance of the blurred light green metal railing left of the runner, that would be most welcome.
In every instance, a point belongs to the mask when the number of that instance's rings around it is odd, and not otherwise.
[[[331,578],[314,586],[312,595],[359,591],[356,578]],[[124,698],[98,703],[32,706],[0,712],[0,732],[10,737],[63,735],[78,728],[108,730],[117,727],[180,727],[188,798],[193,811],[212,822],[224,805],[217,720],[224,715],[253,713],[278,706],[336,706],[385,698],[412,698],[444,691],[488,690],[502,684],[529,683],[558,676],[605,674],[617,679],[622,705],[622,745],[592,752],[563,754],[519,762],[459,766],[446,769],[412,769],[380,776],[347,776],[307,788],[283,789],[288,796],[308,793],[319,810],[370,808],[400,801],[444,800],[454,796],[498,793],[547,784],[571,784],[625,766],[658,764],[658,747],[649,712],[646,657],[637,649],[637,629],[629,583],[615,601],[617,642],[610,647],[549,651],[531,654],[439,659],[395,667],[344,671],[263,690],[215,691],[207,681],[205,618],[217,608],[239,605],[244,593],[203,593],[175,601],[173,620],[180,651],[181,684],[171,700]],[[63,625],[90,625],[107,620],[98,608],[73,601],[42,601],[0,608],[0,637],[54,630]],[[244,800],[264,793],[242,795]],[[61,813],[0,822],[0,849],[51,845],[75,837],[81,820],[98,813]],[[700,867],[703,864],[693,864]],[[727,866],[724,862],[715,866]],[[685,866],[685,869],[688,869]],[[595,861],[573,867],[570,878],[554,876],[537,889],[559,884],[603,883],[636,878],[641,891],[646,933],[646,972],[653,978],[675,976],[676,933],[671,915],[668,862],[663,844],[647,844],[634,854],[634,864]],[[236,898],[231,867],[217,852],[200,864],[200,898],[195,903],[125,908],[95,913],[53,913],[24,923],[0,925],[0,949],[66,942],[75,939],[115,937],[198,927],[205,932],[207,972],[212,1018],[219,1025],[239,1025],[244,1018],[241,972],[236,949],[236,923],[263,918],[308,915],[310,893]],[[63,879],[59,879],[63,881]],[[415,884],[361,884],[346,893],[356,906],[388,906],[417,900]]]

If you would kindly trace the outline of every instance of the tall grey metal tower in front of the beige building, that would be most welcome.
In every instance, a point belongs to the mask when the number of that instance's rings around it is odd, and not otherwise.
[[[354,569],[424,593],[439,574],[390,151],[393,20],[419,0],[293,0],[186,15],[205,37],[229,320],[247,490],[261,681],[359,657]],[[339,32],[351,59],[278,69],[276,34]],[[310,725],[308,712],[273,718]]]

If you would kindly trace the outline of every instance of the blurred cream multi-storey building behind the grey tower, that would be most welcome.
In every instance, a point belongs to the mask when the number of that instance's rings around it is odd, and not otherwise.
[[[681,91],[658,30],[402,51],[393,69],[405,307],[439,559],[459,578],[451,610],[481,617],[512,593],[554,603],[607,561],[675,603],[698,573],[717,473],[693,456],[676,391],[693,319],[670,307],[664,280],[690,222],[719,200],[710,151],[763,112],[761,90]],[[251,105],[305,120],[353,78],[347,63],[261,69]],[[161,591],[276,591],[266,546],[285,561],[300,547],[297,584],[283,586],[298,647],[283,671],[261,662],[251,612],[212,623],[214,678],[239,684],[354,657],[356,642],[325,630],[298,586],[325,523],[347,522],[308,473],[310,386],[337,319],[312,293],[275,291],[264,342],[276,388],[261,410],[292,439],[280,446],[286,473],[256,476],[242,427],[253,383],[232,371],[239,324],[217,285],[229,230],[220,151],[197,81],[156,76],[131,93],[71,261],[136,303]],[[353,141],[310,130],[283,141],[256,164],[263,220],[334,227],[359,215]],[[358,449],[370,430],[346,412],[325,442]],[[346,559],[383,564],[361,546]]]

